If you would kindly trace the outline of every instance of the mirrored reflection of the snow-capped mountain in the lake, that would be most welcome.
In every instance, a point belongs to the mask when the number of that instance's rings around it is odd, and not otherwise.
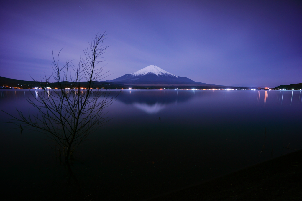
[[[193,98],[192,93],[179,93],[178,91],[150,91],[148,90],[124,90],[117,96],[117,100],[125,104],[131,104],[134,107],[149,114],[155,114],[167,105],[179,102],[187,102]]]

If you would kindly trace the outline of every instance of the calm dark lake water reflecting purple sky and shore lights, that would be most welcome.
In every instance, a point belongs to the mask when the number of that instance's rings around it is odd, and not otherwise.
[[[2,110],[16,115],[15,108],[24,113],[30,108],[29,90],[0,93]],[[20,128],[7,123],[0,123],[1,179],[15,181],[12,187],[19,193],[24,189],[19,184],[29,185],[27,194],[33,196],[38,184],[40,194],[47,188],[57,200],[60,191],[83,200],[140,200],[302,148],[300,91],[111,93],[120,93],[104,110],[113,119],[75,155],[77,190],[68,188],[67,169],[56,159],[52,142],[36,131],[20,134]],[[0,121],[8,121],[8,115],[1,112]],[[64,188],[58,189],[56,181]]]

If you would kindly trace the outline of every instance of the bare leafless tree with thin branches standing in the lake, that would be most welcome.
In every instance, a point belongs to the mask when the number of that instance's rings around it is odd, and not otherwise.
[[[107,52],[108,47],[101,45],[105,36],[105,33],[97,34],[91,40],[77,67],[68,60],[60,67],[60,53],[56,59],[53,55],[51,77],[56,86],[52,86],[50,77],[43,77],[43,82],[35,80],[40,84],[41,93],[37,96],[32,93],[33,99],[28,99],[37,109],[37,115],[29,113],[27,116],[18,109],[18,117],[10,115],[10,122],[20,125],[21,130],[22,126],[34,127],[46,133],[56,142],[56,152],[65,156],[67,163],[86,137],[108,121],[102,111],[116,97],[109,96],[110,91],[95,89],[96,82],[104,77],[104,66],[98,68],[97,64],[102,61],[101,55]]]

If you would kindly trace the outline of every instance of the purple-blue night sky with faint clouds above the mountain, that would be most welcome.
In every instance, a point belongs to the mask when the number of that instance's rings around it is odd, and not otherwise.
[[[108,34],[112,80],[157,65],[197,82],[275,87],[302,82],[301,1],[6,1],[0,76],[39,79],[52,51],[77,64]]]

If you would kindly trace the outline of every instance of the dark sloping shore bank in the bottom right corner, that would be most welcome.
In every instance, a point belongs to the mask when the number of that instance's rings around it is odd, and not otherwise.
[[[302,200],[301,184],[302,150],[299,150],[146,200]]]

